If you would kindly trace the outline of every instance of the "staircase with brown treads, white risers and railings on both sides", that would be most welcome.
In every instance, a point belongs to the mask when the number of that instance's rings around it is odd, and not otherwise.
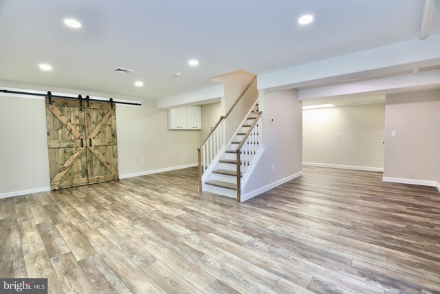
[[[236,103],[232,105],[232,108]],[[262,127],[259,120],[262,114],[263,112],[259,111],[259,103],[256,101],[228,143],[224,143],[226,141],[224,122],[227,116],[220,118],[198,149],[200,191],[209,191],[241,201],[241,190],[263,152]]]

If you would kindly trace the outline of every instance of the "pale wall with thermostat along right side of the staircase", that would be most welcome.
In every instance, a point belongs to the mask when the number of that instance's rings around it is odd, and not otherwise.
[[[259,94],[263,111],[263,156],[244,187],[242,200],[302,175],[303,109],[296,90]],[[274,123],[270,123],[274,118]],[[272,170],[274,167],[274,170]]]

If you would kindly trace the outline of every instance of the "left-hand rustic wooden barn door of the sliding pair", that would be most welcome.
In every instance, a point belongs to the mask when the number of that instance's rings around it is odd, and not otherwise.
[[[46,99],[50,186],[61,189],[87,185],[85,113],[76,101]]]

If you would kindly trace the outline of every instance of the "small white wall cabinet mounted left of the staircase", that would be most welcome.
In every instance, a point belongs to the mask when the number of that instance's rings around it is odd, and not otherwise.
[[[201,129],[201,107],[186,106],[168,110],[168,129]]]

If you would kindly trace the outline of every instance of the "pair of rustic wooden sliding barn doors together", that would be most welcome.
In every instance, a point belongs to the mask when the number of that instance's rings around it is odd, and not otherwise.
[[[46,98],[46,119],[51,189],[119,178],[115,105]]]

